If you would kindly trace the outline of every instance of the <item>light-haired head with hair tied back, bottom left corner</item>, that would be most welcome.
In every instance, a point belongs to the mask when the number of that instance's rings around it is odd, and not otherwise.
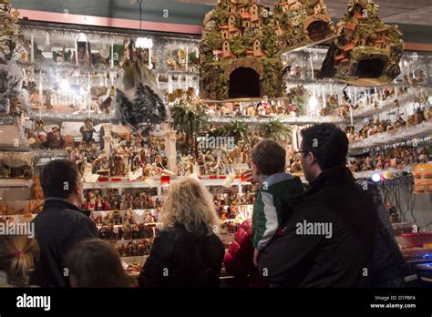
[[[39,258],[35,239],[25,235],[0,235],[0,287],[28,287]]]

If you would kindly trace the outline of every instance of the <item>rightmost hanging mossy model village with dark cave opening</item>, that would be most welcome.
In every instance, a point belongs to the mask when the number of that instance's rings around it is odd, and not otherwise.
[[[327,52],[322,77],[376,87],[389,84],[400,74],[402,33],[397,26],[384,24],[377,14],[378,5],[371,0],[351,0],[336,27],[340,36]]]

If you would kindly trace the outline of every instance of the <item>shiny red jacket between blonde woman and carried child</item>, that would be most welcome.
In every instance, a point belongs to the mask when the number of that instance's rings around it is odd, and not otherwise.
[[[230,249],[223,259],[225,271],[236,279],[238,286],[267,286],[253,266],[252,219],[242,222]]]

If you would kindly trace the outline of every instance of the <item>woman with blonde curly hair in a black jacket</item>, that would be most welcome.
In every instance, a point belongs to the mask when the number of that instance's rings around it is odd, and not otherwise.
[[[216,287],[225,250],[211,194],[195,179],[181,179],[160,210],[163,229],[139,274],[139,286]]]

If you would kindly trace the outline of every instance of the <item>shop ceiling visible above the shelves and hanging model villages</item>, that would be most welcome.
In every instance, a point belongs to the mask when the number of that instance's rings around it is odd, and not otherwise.
[[[277,0],[263,0],[272,6]],[[330,15],[337,21],[345,13],[348,0],[324,0]],[[143,21],[159,24],[201,26],[204,15],[217,0],[143,0]],[[432,44],[431,0],[375,0],[379,16],[386,23],[396,23],[406,42]],[[43,13],[87,15],[113,19],[139,19],[135,0],[12,0],[18,9]],[[167,16],[168,15],[168,16]],[[39,15],[40,16],[40,15]],[[48,19],[48,22],[49,19]]]

